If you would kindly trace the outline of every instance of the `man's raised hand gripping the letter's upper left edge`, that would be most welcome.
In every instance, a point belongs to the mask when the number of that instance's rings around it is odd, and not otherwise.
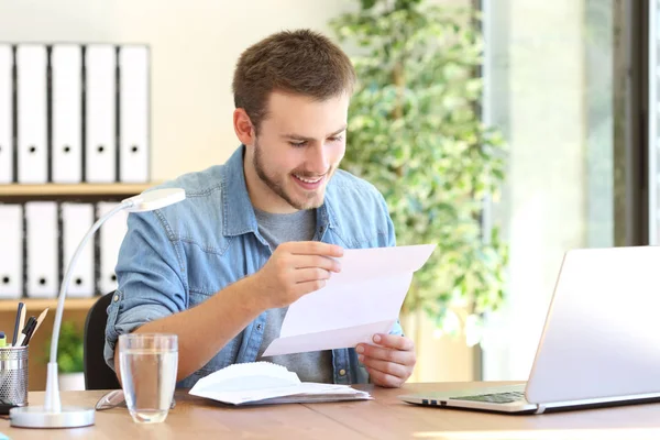
[[[340,263],[332,257],[342,255],[343,249],[336,244],[318,241],[282,243],[253,275],[258,295],[262,295],[260,302],[266,308],[286,307],[302,295],[320,289],[332,272],[341,271]]]

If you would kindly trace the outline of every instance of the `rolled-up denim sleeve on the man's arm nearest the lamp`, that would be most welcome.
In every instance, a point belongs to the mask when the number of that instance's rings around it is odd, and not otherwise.
[[[113,371],[120,334],[187,309],[185,263],[170,231],[163,210],[129,215],[106,323],[103,356]]]

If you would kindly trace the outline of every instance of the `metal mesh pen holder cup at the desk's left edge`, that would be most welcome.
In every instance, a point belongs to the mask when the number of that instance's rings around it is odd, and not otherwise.
[[[28,345],[0,348],[0,399],[28,405]]]

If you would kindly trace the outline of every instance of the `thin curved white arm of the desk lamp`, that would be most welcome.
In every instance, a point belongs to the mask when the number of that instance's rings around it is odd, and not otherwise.
[[[51,360],[48,362],[48,377],[46,382],[46,398],[44,402],[44,406],[53,411],[59,411],[61,402],[59,402],[59,386],[57,385],[57,341],[59,340],[59,328],[62,326],[62,315],[64,314],[64,300],[66,298],[66,292],[68,289],[68,285],[73,275],[74,267],[76,267],[76,263],[82,249],[89,241],[91,237],[96,233],[96,231],[110,217],[114,216],[117,212],[131,208],[135,205],[134,200],[125,199],[108,213],[99,218],[92,227],[87,231],[78,248],[76,248],[76,252],[72,257],[64,278],[62,279],[62,285],[59,287],[59,297],[57,299],[57,308],[55,310],[55,322],[53,324],[53,338],[51,340]]]

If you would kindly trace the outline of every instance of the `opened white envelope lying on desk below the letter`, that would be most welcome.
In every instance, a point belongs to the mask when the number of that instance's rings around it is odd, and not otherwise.
[[[229,365],[197,381],[189,392],[231,405],[293,404],[371,399],[348,385],[300,382],[296,373],[271,362]]]

